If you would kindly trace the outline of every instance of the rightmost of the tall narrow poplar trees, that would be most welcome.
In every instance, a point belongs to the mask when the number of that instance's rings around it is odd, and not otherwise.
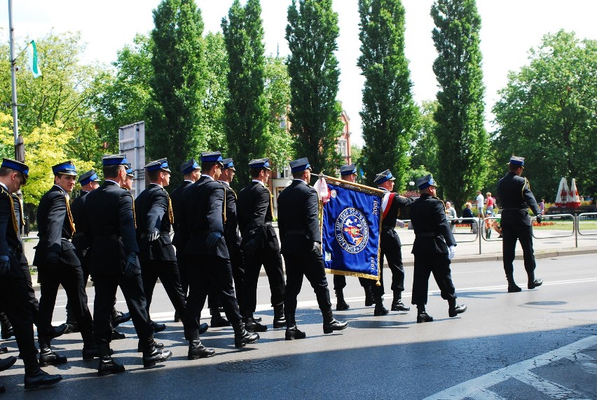
[[[479,49],[481,18],[475,0],[436,0],[431,15],[438,53],[433,72],[440,87],[434,114],[440,166],[437,178],[444,196],[460,206],[483,188],[488,171]]]

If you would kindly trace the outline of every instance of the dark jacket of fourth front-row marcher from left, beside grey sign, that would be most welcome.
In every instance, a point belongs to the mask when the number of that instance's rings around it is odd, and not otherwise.
[[[135,199],[135,216],[137,218],[137,240],[139,257],[148,260],[176,261],[176,252],[170,240],[172,227],[172,206],[166,189],[152,183]],[[147,241],[150,230],[158,230],[158,239]]]

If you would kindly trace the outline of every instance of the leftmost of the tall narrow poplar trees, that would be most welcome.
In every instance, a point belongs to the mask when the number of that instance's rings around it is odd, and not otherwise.
[[[153,11],[153,102],[146,125],[146,159],[167,156],[172,171],[197,156],[205,94],[203,19],[193,0],[163,0]],[[173,173],[170,187],[182,178]]]

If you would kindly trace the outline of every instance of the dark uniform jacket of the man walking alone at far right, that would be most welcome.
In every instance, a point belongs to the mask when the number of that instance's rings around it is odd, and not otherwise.
[[[528,208],[533,209],[535,215],[541,213],[537,200],[530,191],[526,178],[509,172],[497,182],[497,197],[502,206],[502,224],[520,224],[530,226]]]

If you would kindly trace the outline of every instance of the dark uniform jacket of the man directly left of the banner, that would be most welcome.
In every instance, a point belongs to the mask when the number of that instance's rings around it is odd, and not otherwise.
[[[303,180],[293,180],[277,198],[277,227],[284,254],[306,254],[322,241],[317,191]]]

